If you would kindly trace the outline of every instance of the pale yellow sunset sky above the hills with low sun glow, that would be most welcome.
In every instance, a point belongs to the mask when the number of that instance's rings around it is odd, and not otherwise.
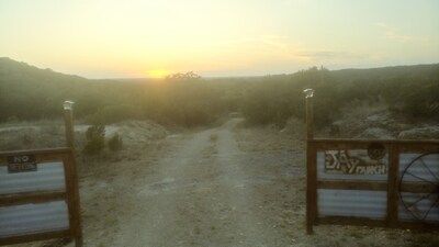
[[[0,57],[87,78],[439,63],[438,0],[0,0]]]

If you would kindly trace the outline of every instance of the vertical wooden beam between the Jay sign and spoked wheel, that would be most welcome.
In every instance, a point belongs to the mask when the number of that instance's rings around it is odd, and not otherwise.
[[[387,225],[396,227],[398,224],[398,178],[399,178],[399,148],[397,144],[389,147],[387,175]]]

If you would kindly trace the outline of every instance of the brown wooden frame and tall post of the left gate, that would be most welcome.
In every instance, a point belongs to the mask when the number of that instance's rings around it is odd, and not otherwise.
[[[45,240],[52,238],[74,238],[75,246],[81,247],[82,228],[80,217],[80,200],[78,175],[75,160],[74,146],[74,122],[72,122],[72,102],[64,103],[64,116],[66,126],[66,144],[68,147],[50,148],[50,149],[34,149],[34,150],[18,150],[0,153],[0,164],[8,164],[8,157],[32,155],[35,157],[35,162],[45,161],[63,161],[65,175],[64,191],[45,191],[45,192],[25,192],[15,194],[0,195],[0,206],[21,205],[29,203],[43,203],[50,201],[61,201],[67,203],[69,228],[61,231],[52,231],[44,233],[31,233],[25,235],[9,236],[0,238],[0,246],[27,243],[34,240]]]

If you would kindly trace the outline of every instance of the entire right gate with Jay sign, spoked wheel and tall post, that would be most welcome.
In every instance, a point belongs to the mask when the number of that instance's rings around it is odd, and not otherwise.
[[[439,228],[439,142],[317,139],[306,98],[306,229],[317,224]]]

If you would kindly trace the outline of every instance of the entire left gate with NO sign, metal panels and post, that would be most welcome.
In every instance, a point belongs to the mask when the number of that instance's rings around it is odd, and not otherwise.
[[[72,136],[71,108],[65,109]],[[82,246],[72,138],[65,148],[0,153],[0,246],[74,238]]]

